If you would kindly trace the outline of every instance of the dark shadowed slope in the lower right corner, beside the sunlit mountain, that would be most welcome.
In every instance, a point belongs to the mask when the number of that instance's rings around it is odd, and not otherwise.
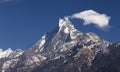
[[[108,54],[96,55],[91,72],[120,72],[120,43],[111,44],[108,49]]]

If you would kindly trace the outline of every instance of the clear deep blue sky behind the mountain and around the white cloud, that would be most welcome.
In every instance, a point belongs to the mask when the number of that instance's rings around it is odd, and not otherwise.
[[[95,32],[110,42],[120,41],[119,0],[0,0],[0,48],[32,47],[41,36],[53,30],[58,19],[84,10],[95,10],[111,17],[107,30],[84,26],[71,19],[82,32]]]

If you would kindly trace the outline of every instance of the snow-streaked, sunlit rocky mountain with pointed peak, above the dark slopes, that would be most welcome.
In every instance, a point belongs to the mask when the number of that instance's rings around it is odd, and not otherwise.
[[[82,63],[79,67],[81,69],[84,63],[89,62],[91,64],[98,53],[107,53],[109,44],[95,33],[82,33],[74,27],[69,18],[60,18],[57,27],[43,35],[28,50],[17,49],[13,51],[9,48],[4,51],[0,49],[0,72],[31,72],[37,66],[42,67],[49,62],[50,67],[56,68],[54,64],[67,64],[77,62],[76,60],[83,60],[77,63]],[[119,45],[120,43],[116,44],[117,47]],[[58,63],[57,60],[59,60]],[[54,67],[51,66],[51,63],[54,63]]]

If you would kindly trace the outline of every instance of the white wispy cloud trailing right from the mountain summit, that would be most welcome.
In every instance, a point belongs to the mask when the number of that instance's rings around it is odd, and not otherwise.
[[[85,10],[80,13],[75,13],[69,18],[78,18],[84,20],[84,25],[95,24],[101,29],[109,26],[110,17],[106,14],[97,13],[94,10]]]

